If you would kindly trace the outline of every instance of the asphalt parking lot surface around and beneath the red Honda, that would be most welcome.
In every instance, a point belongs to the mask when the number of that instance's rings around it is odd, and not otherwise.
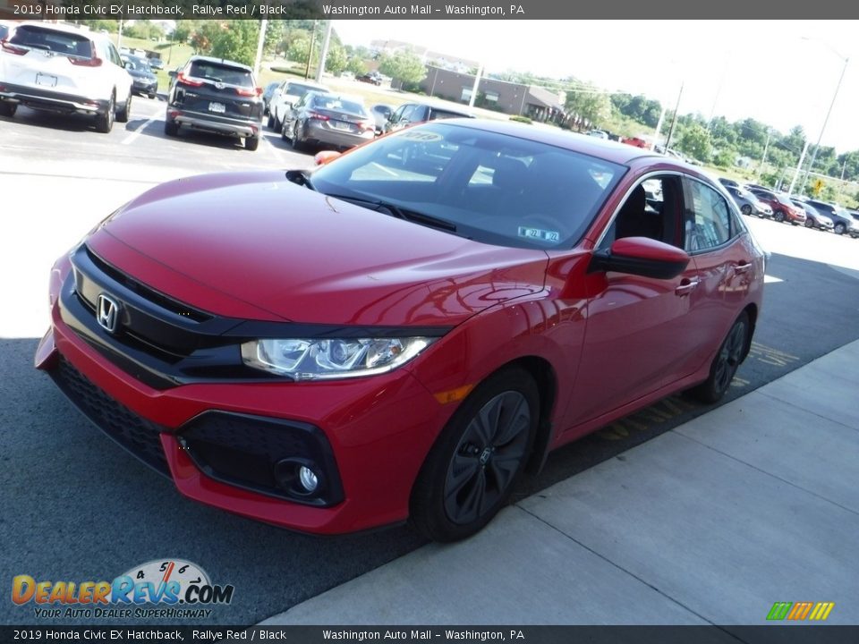
[[[189,174],[311,165],[309,155],[293,152],[268,130],[256,152],[199,133],[168,139],[163,113],[162,101],[135,97],[131,121],[107,135],[84,119],[69,122],[25,108],[12,120],[0,118],[3,578],[113,579],[139,563],[182,558],[236,589],[233,604],[219,607],[211,623],[255,623],[404,555],[421,540],[405,528],[310,538],[195,504],[92,428],[32,368],[47,326],[49,267],[124,201]],[[753,353],[726,402],[859,338],[859,241],[771,221],[750,225],[773,252],[771,281]],[[659,402],[552,454],[518,497],[707,411],[682,396]],[[0,622],[32,622],[31,610],[0,602]]]

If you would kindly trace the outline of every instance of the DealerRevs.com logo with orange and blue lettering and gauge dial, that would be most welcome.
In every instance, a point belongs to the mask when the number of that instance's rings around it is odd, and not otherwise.
[[[234,587],[213,584],[196,563],[156,559],[112,581],[12,580],[12,601],[33,606],[37,618],[206,618],[233,601]]]

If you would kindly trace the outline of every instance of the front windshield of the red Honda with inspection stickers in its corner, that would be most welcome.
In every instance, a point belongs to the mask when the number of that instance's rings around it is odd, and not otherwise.
[[[356,148],[313,173],[327,194],[383,202],[478,242],[571,248],[625,173],[538,141],[432,122]]]

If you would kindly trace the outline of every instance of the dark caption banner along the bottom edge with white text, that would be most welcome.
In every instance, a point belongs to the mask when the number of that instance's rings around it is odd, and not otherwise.
[[[0,641],[846,644],[859,641],[859,626],[0,626]]]

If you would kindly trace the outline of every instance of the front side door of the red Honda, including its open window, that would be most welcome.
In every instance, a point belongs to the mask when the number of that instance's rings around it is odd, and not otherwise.
[[[685,210],[681,175],[650,175],[629,190],[597,250],[622,237],[649,237],[683,248]],[[689,355],[702,336],[689,319],[699,285],[693,261],[671,279],[605,274],[587,304],[566,427],[652,394],[688,371]]]

